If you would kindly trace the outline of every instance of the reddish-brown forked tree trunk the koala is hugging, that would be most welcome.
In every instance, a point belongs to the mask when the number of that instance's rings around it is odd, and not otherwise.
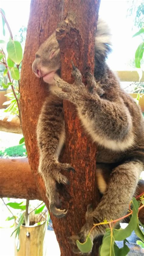
[[[94,36],[98,19],[100,0],[65,0],[31,2],[25,53],[21,73],[22,126],[25,136],[29,164],[34,174],[41,197],[48,201],[42,178],[37,174],[38,148],[36,124],[48,87],[39,81],[31,71],[32,62],[39,45],[57,28],[61,52],[62,78],[72,82],[71,60],[82,74],[94,70]],[[57,27],[57,24],[63,21]],[[28,61],[29,60],[29,61]],[[96,147],[85,135],[77,118],[76,109],[64,102],[66,123],[66,144],[60,161],[70,163],[76,173],[67,174],[70,186],[60,190],[62,205],[68,209],[66,217],[57,219],[51,215],[53,228],[60,245],[61,255],[74,255],[67,237],[80,231],[85,222],[86,206],[99,201],[95,183]],[[92,255],[98,255],[98,242]]]

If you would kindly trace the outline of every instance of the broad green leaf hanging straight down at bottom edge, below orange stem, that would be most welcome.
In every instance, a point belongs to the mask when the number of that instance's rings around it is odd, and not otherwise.
[[[115,256],[114,252],[114,242],[115,239],[113,236],[111,236],[111,232],[106,232],[108,234],[105,234],[102,240],[101,250],[100,250],[100,256]]]

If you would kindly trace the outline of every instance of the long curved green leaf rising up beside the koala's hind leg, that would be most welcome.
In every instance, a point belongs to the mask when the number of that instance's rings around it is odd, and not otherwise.
[[[129,222],[129,225],[125,229],[113,229],[114,231],[114,238],[116,241],[122,241],[125,238],[129,237],[132,234],[132,231],[136,228],[137,226],[137,220],[138,220],[138,202],[136,201],[135,198],[132,199],[132,204],[133,204],[133,213],[131,220]]]

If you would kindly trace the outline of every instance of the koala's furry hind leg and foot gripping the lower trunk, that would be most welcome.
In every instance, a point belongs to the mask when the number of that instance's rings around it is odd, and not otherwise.
[[[93,212],[87,216],[86,223],[77,235],[80,242],[86,240],[94,223],[103,222],[104,219],[110,221],[118,219],[127,213],[129,202],[132,199],[136,186],[139,181],[139,175],[143,170],[141,161],[127,161],[111,171],[110,181],[101,202]],[[91,232],[91,240],[105,234],[105,228],[108,225],[96,226]],[[77,237],[76,236],[76,237]],[[74,244],[74,236],[72,237]],[[75,240],[76,245],[76,240]]]

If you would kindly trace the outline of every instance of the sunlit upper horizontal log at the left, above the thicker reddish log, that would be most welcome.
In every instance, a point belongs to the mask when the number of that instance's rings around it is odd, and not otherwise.
[[[4,113],[0,114],[0,131],[22,134],[19,117],[13,115],[4,115]]]

